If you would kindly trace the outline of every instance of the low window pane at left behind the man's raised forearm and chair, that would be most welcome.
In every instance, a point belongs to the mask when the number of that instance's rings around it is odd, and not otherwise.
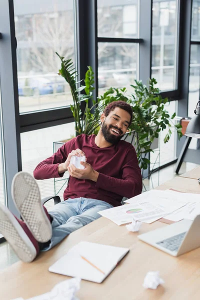
[[[22,170],[32,174],[35,166],[41,160],[53,154],[54,141],[61,141],[73,136],[75,136],[74,123],[68,123],[21,133],[20,137]],[[65,174],[65,176],[67,176],[67,174]],[[53,178],[37,180],[37,183],[39,185],[41,198],[54,194]],[[59,190],[63,183],[65,183],[64,180],[56,182],[56,191]],[[62,188],[58,193],[61,199],[63,199],[63,190],[64,188]],[[46,205],[48,208],[53,205],[53,202],[48,201]]]

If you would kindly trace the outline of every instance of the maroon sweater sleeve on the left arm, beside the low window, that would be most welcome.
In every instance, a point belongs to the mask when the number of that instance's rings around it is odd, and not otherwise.
[[[33,170],[35,179],[48,179],[62,177],[64,173],[58,173],[58,165],[64,162],[69,153],[70,141],[63,144],[52,156],[42,160]]]

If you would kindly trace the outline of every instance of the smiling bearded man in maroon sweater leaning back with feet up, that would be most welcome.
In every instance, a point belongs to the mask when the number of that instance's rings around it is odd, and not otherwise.
[[[72,231],[100,217],[98,211],[121,205],[123,196],[141,193],[141,171],[134,147],[121,140],[132,121],[131,106],[123,101],[111,102],[100,121],[97,135],[72,138],[34,169],[35,179],[62,177],[69,172],[64,201],[51,211],[41,205],[31,175],[19,172],[14,176],[12,197],[23,221],[0,205],[0,232],[21,260],[32,261],[40,250],[50,249]],[[74,155],[85,155],[83,169],[69,164]]]

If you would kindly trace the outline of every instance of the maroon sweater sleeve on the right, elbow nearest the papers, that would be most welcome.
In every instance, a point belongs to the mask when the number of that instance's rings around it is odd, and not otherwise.
[[[121,169],[121,179],[99,173],[95,187],[127,198],[141,193],[141,170],[138,166],[136,152],[132,146],[126,152],[124,164]]]

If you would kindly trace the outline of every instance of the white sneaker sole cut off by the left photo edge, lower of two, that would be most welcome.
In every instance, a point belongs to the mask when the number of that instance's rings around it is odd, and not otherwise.
[[[13,214],[2,204],[0,204],[0,232],[20,260],[31,262],[35,258],[36,249],[31,240]]]

